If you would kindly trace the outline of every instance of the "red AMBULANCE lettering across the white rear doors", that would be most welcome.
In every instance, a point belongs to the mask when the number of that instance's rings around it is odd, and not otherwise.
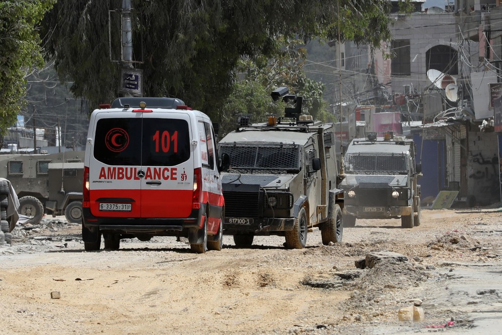
[[[132,167],[102,167],[98,179],[140,180],[137,172],[138,168]],[[178,168],[149,167],[145,171],[145,180],[147,179],[178,180]]]

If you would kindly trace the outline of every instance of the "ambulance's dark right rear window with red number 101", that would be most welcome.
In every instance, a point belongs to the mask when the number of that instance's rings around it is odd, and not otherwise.
[[[143,119],[146,166],[175,166],[190,158],[188,123],[181,119]]]

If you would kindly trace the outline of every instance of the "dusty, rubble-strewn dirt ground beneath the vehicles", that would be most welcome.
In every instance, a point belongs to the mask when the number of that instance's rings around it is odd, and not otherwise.
[[[501,212],[422,213],[413,229],[397,219],[358,220],[333,246],[322,246],[318,231],[304,250],[284,249],[279,237],[236,249],[225,236],[222,251],[205,255],[175,238],[86,253],[80,226],[46,217],[17,227],[12,247],[0,246],[0,332],[390,334],[437,331],[426,326],[453,319],[439,330],[476,333],[471,313],[502,305]],[[373,251],[409,261],[356,269]],[[480,285],[492,286],[467,288],[480,269]],[[422,300],[425,321],[399,322],[398,309],[413,299]]]

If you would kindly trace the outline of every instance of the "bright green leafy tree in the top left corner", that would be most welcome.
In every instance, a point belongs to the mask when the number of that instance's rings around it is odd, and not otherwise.
[[[0,2],[0,135],[16,123],[24,104],[26,77],[44,64],[37,26],[55,2]]]

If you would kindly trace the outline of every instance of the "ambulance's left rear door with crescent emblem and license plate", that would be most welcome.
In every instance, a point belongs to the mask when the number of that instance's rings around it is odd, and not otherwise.
[[[141,217],[142,113],[97,113],[89,159],[90,209],[98,217]]]

